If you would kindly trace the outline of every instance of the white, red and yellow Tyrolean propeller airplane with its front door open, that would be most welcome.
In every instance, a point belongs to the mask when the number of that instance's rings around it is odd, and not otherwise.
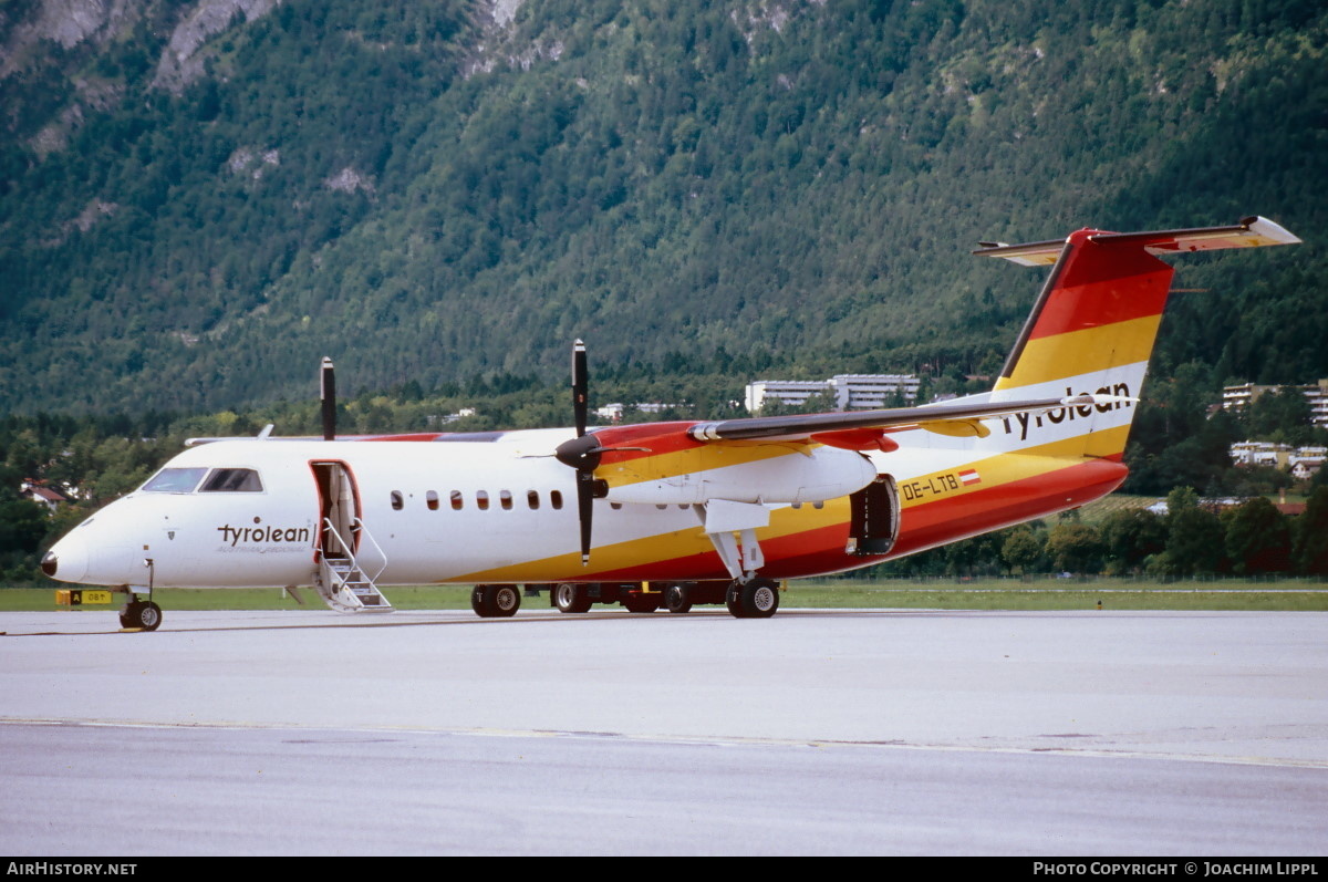
[[[323,440],[271,426],[191,440],[41,569],[124,592],[122,627],[146,631],[167,586],[312,586],[333,610],[372,612],[393,608],[384,586],[471,584],[482,618],[546,590],[568,614],[724,603],[769,618],[781,580],[1113,491],[1174,271],[1159,258],[1297,242],[1251,217],[980,243],[976,255],[1050,272],[989,392],[912,408],[588,428],[578,340],[574,428],[337,438],[324,359]]]

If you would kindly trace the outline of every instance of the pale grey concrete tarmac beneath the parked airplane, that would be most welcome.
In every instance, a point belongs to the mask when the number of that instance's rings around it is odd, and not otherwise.
[[[9,854],[1323,854],[1328,614],[0,614]]]

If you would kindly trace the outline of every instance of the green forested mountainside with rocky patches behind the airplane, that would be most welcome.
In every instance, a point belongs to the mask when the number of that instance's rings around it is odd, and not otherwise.
[[[1266,214],[1158,372],[1328,376],[1313,0],[7,0],[0,412],[538,373],[967,373],[979,239]],[[641,365],[633,368],[632,365]]]

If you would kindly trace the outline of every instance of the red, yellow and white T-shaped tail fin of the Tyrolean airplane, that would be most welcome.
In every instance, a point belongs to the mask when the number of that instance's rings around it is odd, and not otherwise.
[[[1230,227],[1195,230],[1080,230],[1064,242],[975,251],[1023,266],[1052,266],[992,400],[1082,392],[1138,397],[1174,272],[1154,255],[1296,242],[1272,220],[1246,218]],[[1082,449],[1074,453],[1120,460],[1133,416],[1130,402],[1080,405],[1035,417],[1036,425],[1015,430],[1021,441],[1031,440],[1031,428],[1045,429],[1048,441],[1082,438]]]

